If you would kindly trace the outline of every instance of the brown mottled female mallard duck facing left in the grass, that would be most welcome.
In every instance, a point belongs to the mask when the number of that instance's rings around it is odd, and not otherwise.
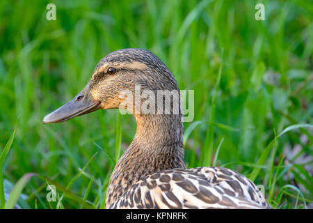
[[[172,72],[157,56],[145,49],[120,49],[104,57],[83,91],[43,123],[119,108],[124,102],[120,93],[136,94],[137,85],[154,93],[179,92]],[[125,109],[136,118],[136,134],[111,175],[106,208],[271,208],[255,184],[236,171],[186,169],[181,107],[175,113],[173,102],[167,114],[144,114],[138,112],[143,101],[133,103]]]

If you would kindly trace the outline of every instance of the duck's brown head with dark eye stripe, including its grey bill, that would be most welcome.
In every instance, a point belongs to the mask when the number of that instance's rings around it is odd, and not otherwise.
[[[145,49],[120,49],[105,56],[86,87],[73,100],[45,116],[43,123],[67,121],[97,109],[117,109],[125,102],[121,92],[135,95],[136,86],[154,92],[179,92],[172,72],[157,56]],[[134,113],[137,105],[133,105],[125,109]]]

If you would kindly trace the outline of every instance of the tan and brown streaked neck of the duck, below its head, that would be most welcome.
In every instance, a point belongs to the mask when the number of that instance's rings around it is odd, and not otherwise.
[[[135,118],[136,134],[113,170],[106,194],[106,207],[147,174],[186,168],[181,116],[141,114],[135,115]]]

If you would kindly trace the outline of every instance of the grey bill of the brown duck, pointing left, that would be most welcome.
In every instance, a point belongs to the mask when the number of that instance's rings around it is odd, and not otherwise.
[[[100,102],[93,99],[87,85],[73,100],[45,116],[42,123],[61,123],[100,108]]]

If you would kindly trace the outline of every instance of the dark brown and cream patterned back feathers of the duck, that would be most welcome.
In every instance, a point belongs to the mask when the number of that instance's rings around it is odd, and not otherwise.
[[[109,208],[271,208],[245,176],[223,167],[149,174]]]

